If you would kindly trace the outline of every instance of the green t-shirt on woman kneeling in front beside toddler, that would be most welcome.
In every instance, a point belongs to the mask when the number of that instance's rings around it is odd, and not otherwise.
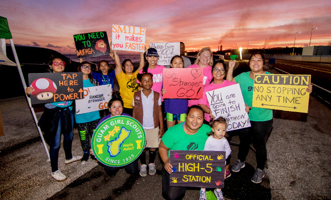
[[[202,124],[195,134],[186,134],[183,123],[170,127],[162,136],[162,141],[170,150],[204,150],[207,133],[212,129],[209,125]]]

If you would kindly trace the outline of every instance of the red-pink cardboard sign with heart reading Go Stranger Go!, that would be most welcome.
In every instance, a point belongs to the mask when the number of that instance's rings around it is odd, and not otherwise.
[[[201,68],[163,68],[163,98],[202,98]]]

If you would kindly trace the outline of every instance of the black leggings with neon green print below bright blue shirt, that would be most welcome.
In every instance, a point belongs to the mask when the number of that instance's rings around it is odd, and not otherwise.
[[[77,129],[79,131],[79,136],[80,136],[80,143],[82,145],[84,153],[87,153],[91,149],[90,140],[100,119],[101,118],[85,123],[77,123]]]

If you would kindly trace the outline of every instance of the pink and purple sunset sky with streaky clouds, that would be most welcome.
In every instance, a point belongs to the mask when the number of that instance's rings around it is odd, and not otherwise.
[[[327,45],[331,0],[2,0],[15,44],[74,53],[73,35],[124,24],[146,42],[183,41],[186,50]],[[251,41],[251,42],[249,42]],[[8,42],[8,41],[7,41]],[[238,44],[239,43],[239,44]]]

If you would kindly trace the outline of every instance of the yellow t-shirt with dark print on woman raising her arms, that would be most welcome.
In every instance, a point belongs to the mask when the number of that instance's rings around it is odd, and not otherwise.
[[[121,93],[124,107],[132,108],[133,93],[139,91],[140,87],[137,83],[137,74],[139,70],[134,71],[132,74],[128,75],[123,72],[123,70],[116,75],[116,79],[119,85],[119,92]]]

